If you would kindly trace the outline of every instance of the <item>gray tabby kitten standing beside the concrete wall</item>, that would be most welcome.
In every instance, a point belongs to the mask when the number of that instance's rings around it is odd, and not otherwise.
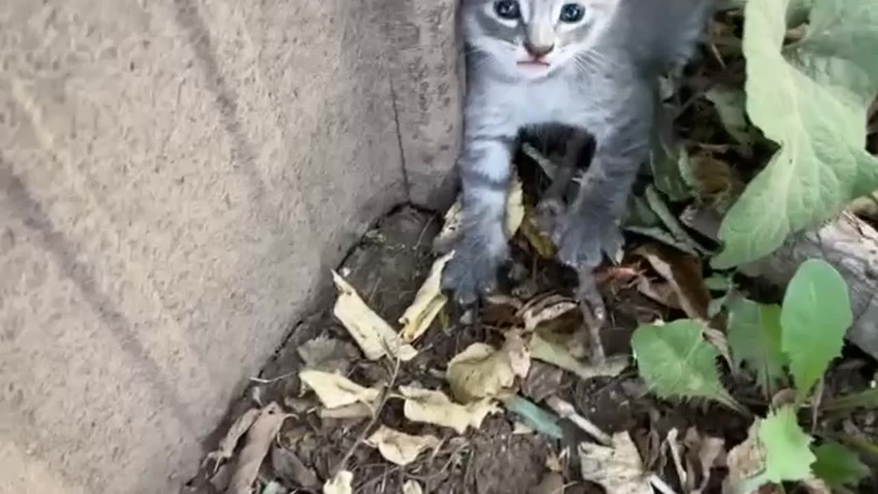
[[[507,259],[503,216],[522,129],[561,124],[594,136],[577,199],[552,227],[560,260],[587,284],[602,252],[622,247],[619,221],[649,154],[657,76],[687,62],[710,7],[711,0],[462,0],[464,222],[443,273],[459,303],[493,291]],[[568,154],[586,143],[574,139]]]

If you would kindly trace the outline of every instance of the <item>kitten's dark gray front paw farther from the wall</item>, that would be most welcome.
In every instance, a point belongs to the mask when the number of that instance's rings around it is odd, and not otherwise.
[[[603,252],[615,258],[622,249],[619,226],[600,214],[572,211],[556,225],[552,239],[558,245],[558,259],[579,272],[591,272],[601,264]]]

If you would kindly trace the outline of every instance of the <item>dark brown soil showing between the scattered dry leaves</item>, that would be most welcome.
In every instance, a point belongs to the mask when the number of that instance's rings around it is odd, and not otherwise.
[[[411,303],[421,282],[427,276],[435,255],[432,239],[441,227],[442,218],[401,207],[372,229],[350,253],[337,270],[356,287],[363,300],[387,321],[396,321]],[[521,245],[523,243],[516,243]],[[564,293],[570,289],[560,268],[534,258],[515,248],[520,265],[529,265],[529,276],[512,287],[515,294],[552,290]],[[603,287],[608,299],[610,317],[603,333],[608,354],[630,352],[628,341],[638,323],[650,322],[657,316],[671,316],[671,310],[651,301],[634,287]],[[394,373],[392,363],[363,360],[347,331],[332,315],[331,303],[326,309],[308,317],[292,332],[290,338],[266,364],[258,381],[253,381],[246,396],[234,403],[227,421],[213,436],[217,447],[235,418],[246,410],[266,403],[283,403],[284,410],[295,417],[284,421],[277,439],[271,441],[259,469],[255,492],[319,492],[347,456],[347,469],[354,474],[353,492],[357,494],[401,492],[407,481],[417,481],[426,492],[536,493],[549,494],[563,486],[565,492],[599,493],[602,488],[581,480],[576,444],[590,440],[587,434],[568,420],[561,422],[564,438],[555,440],[540,433],[515,431],[515,417],[506,412],[486,418],[476,430],[457,434],[448,428],[415,424],[404,418],[402,400],[387,400],[380,416],[368,418],[320,418],[313,396],[299,381],[298,371],[305,365],[299,349],[314,338],[336,338],[344,345],[335,349],[337,369],[356,382],[390,382],[396,385],[420,383],[431,389],[442,389],[443,369],[458,352],[474,342],[498,344],[504,325],[502,310],[486,309],[479,317],[464,316],[450,310],[448,326],[438,320],[418,342],[418,357],[401,363]],[[469,318],[473,323],[461,323]],[[507,316],[507,315],[506,315]],[[530,376],[542,381],[522,383],[529,396],[540,396],[540,388],[573,403],[579,413],[604,432],[629,431],[637,444],[647,468],[655,471],[670,485],[677,485],[673,461],[661,448],[667,433],[689,427],[704,436],[724,440],[730,449],[745,440],[752,418],[710,403],[671,403],[657,400],[647,393],[630,365],[615,377],[581,380],[572,373],[543,363],[535,363]],[[874,379],[875,362],[857,352],[849,351],[846,359],[834,368],[826,383],[827,389],[864,389]],[[766,410],[766,401],[752,392],[752,386],[726,376],[730,389],[739,391],[742,400],[756,412]],[[536,378],[535,378],[536,380]],[[547,384],[548,383],[548,384]],[[535,399],[535,401],[538,401]],[[856,425],[860,431],[878,438],[874,410],[847,417],[842,422]],[[389,425],[413,434],[434,434],[441,440],[428,454],[406,466],[385,461],[378,450],[362,444],[363,428],[375,424]],[[842,427],[843,425],[837,425]],[[235,454],[241,454],[239,446]],[[190,494],[224,492],[227,489],[234,459],[217,466],[207,460],[198,476],[184,488]],[[723,467],[714,475],[705,492],[720,492]],[[275,483],[271,483],[274,481]],[[677,490],[682,492],[682,490]],[[860,492],[878,492],[878,476],[864,482]]]

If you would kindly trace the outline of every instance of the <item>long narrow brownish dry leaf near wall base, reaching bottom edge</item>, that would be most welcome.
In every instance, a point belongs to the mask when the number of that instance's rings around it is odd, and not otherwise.
[[[241,449],[241,455],[234,467],[232,480],[229,482],[229,494],[250,494],[250,487],[259,475],[259,467],[268,454],[271,442],[280,431],[284,420],[291,414],[284,413],[277,403],[269,403],[260,410],[259,417],[247,432],[247,443]]]

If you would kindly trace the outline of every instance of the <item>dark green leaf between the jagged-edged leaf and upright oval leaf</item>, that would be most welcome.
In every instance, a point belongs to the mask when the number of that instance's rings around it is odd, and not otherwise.
[[[742,297],[732,297],[729,308],[729,345],[736,367],[746,364],[756,373],[759,388],[774,396],[777,382],[788,364],[781,351],[781,306],[763,305]]]

